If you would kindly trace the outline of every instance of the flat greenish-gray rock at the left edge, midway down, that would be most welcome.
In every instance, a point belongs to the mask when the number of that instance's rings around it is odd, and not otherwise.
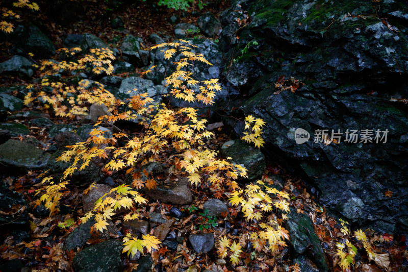
[[[26,141],[10,139],[0,145],[0,168],[7,172],[39,170],[46,166],[49,156]]]

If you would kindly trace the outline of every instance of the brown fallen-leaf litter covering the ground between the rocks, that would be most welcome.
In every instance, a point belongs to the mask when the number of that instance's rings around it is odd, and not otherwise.
[[[153,11],[148,4],[139,3],[138,5],[127,5],[123,9],[117,11],[110,11],[106,4],[98,6],[89,6],[86,18],[78,22],[60,26],[56,20],[48,18],[44,13],[33,13],[29,16],[24,16],[24,20],[31,20],[35,22],[41,22],[41,27],[46,30],[49,37],[56,43],[56,47],[62,47],[64,37],[68,34],[83,34],[93,33],[100,39],[106,42],[115,41],[117,43],[111,43],[113,47],[119,46],[119,41],[127,34],[143,37],[143,48],[148,48],[154,44],[149,42],[146,37],[152,33],[159,33],[162,37],[168,37],[168,40],[173,40],[174,24],[168,22],[168,18],[174,14],[180,16],[180,22],[195,23],[199,15],[208,11],[212,12],[216,17],[219,17],[219,13],[227,8],[228,3],[221,2],[222,5],[218,7],[204,8],[199,12],[194,12],[193,9],[183,11],[173,11],[160,7],[158,11]],[[124,22],[124,30],[113,29],[110,25],[110,18],[120,16]],[[199,34],[198,34],[199,35]],[[203,36],[201,36],[204,38]],[[0,62],[9,59],[13,54],[10,44],[3,42],[1,44],[4,50],[0,53]],[[38,61],[33,57],[33,60]],[[142,70],[138,69],[137,72],[141,73]],[[22,80],[17,77],[0,77],[0,85],[12,86],[16,84],[28,84],[27,80]],[[62,118],[51,116],[55,123],[62,123]],[[24,121],[23,121],[24,122]],[[72,120],[72,124],[77,120]],[[43,129],[33,128],[31,126],[33,134],[27,137],[16,137],[16,139],[23,140],[24,138],[34,137],[39,141],[45,143],[44,149],[47,146],[53,144],[53,141],[47,139],[47,134]],[[133,133],[132,130],[127,130],[127,133]],[[215,137],[212,140],[214,146],[220,146],[222,143],[230,140],[230,135],[223,131],[222,128],[214,131]],[[27,175],[23,176],[3,176],[3,180],[6,182],[9,189],[17,191],[24,195],[24,199],[28,202],[32,202],[38,199],[35,195],[35,190],[38,189],[38,178],[41,174],[38,171],[29,171]],[[276,175],[281,176],[282,180],[278,181]],[[125,177],[117,177],[117,180],[125,180]],[[344,225],[342,225],[336,218],[330,217],[326,214],[324,207],[321,207],[315,202],[315,196],[310,192],[310,186],[305,184],[302,180],[289,174],[285,169],[280,167],[276,162],[267,158],[266,171],[262,176],[262,181],[269,185],[280,185],[282,191],[288,193],[290,199],[288,203],[293,210],[297,213],[307,214],[313,222],[313,233],[316,234],[321,241],[323,251],[327,258],[327,263],[334,271],[341,271],[340,258],[339,258],[339,246],[336,243],[344,241],[346,239],[353,240],[353,244],[358,244],[358,251],[356,249],[353,259],[353,270],[361,271],[398,271],[406,266],[406,259],[408,254],[406,253],[406,242],[404,237],[394,237],[390,234],[376,234],[373,231],[366,230],[365,234],[368,237],[369,243],[373,246],[374,251],[381,253],[378,256],[383,256],[382,259],[372,259],[365,254],[364,243],[359,243],[355,238],[352,238],[352,233],[346,232]],[[87,184],[89,185],[89,184]],[[74,209],[74,212],[65,215],[56,215],[53,217],[40,217],[29,213],[31,227],[30,237],[25,238],[24,241],[15,243],[14,238],[10,235],[7,226],[3,229],[2,233],[3,244],[0,245],[0,253],[2,254],[2,261],[6,263],[7,260],[19,259],[22,261],[25,267],[30,267],[32,271],[48,271],[48,270],[72,270],[72,259],[75,255],[74,251],[64,252],[60,245],[65,238],[72,232],[72,230],[79,225],[78,218],[83,215],[82,211],[82,194],[86,186],[71,186],[69,187],[70,196],[66,197],[63,201],[68,207]],[[229,193],[221,193],[214,191],[212,188],[207,187],[205,184],[197,186],[192,189],[194,195],[194,201],[190,206],[180,205],[175,207],[179,212],[184,212],[185,217],[177,220],[171,227],[163,227],[163,232],[167,232],[165,236],[171,236],[181,234],[183,241],[180,243],[177,249],[169,250],[169,246],[163,246],[160,250],[155,251],[151,256],[153,263],[156,264],[158,270],[165,271],[200,271],[204,269],[212,269],[213,271],[288,271],[298,269],[293,265],[293,251],[289,250],[289,246],[279,246],[279,249],[274,254],[271,252],[266,253],[262,250],[261,253],[252,254],[253,243],[248,233],[253,229],[258,228],[258,222],[253,220],[248,222],[242,213],[236,207],[228,207],[228,212],[231,213],[231,217],[218,218],[218,220],[212,220],[211,217],[206,216],[205,208],[203,204],[209,199],[221,199],[224,202],[228,202]],[[68,195],[68,194],[67,194]],[[149,212],[158,212],[164,216],[166,220],[172,220],[171,205],[166,205],[159,202],[149,202],[144,205],[139,211],[145,218],[149,217]],[[196,211],[194,211],[196,208]],[[198,209],[198,210],[197,210]],[[13,211],[16,212],[16,211]],[[187,215],[188,214],[188,215]],[[74,218],[73,224],[61,226],[62,222],[69,222],[68,219]],[[280,218],[279,218],[280,219]],[[119,230],[118,233],[110,233],[111,238],[119,238],[125,232],[125,228],[122,224],[120,217],[113,220],[114,224]],[[164,225],[164,224],[163,224]],[[200,228],[204,226],[204,228]],[[208,229],[206,227],[209,227]],[[158,229],[158,227],[157,227]],[[196,254],[191,249],[188,243],[188,234],[200,231],[207,231],[213,233],[216,238],[220,239],[224,235],[228,235],[231,240],[239,242],[243,251],[240,253],[239,262],[235,265],[228,260],[228,258],[220,258],[214,250],[209,254]],[[356,231],[356,230],[352,230]],[[152,230],[154,232],[154,230]],[[158,232],[155,232],[156,234]],[[160,234],[160,233],[159,233]],[[173,237],[174,238],[174,237]],[[171,237],[169,238],[171,239]],[[216,239],[216,242],[218,242]],[[92,239],[89,239],[87,244],[97,244],[103,239],[95,234]],[[287,240],[287,244],[290,245],[290,241]],[[217,244],[216,244],[217,246]],[[263,248],[263,245],[260,246]],[[350,246],[350,251],[352,247]],[[292,254],[292,256],[291,256]],[[345,253],[349,254],[349,253]],[[385,255],[387,254],[387,258]],[[231,255],[231,254],[230,254]],[[182,261],[179,258],[182,257]],[[231,256],[228,256],[231,257]],[[125,258],[123,258],[125,259]],[[355,261],[354,261],[355,260]],[[350,261],[350,260],[349,260]],[[137,265],[132,259],[125,259],[125,270],[132,271],[133,268],[137,269]],[[311,264],[313,267],[313,264]],[[177,270],[179,269],[179,270]],[[5,271],[5,270],[3,270]],[[402,270],[401,270],[402,271]]]

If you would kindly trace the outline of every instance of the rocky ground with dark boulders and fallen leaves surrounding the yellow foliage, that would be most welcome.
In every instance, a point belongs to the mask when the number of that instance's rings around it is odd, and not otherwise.
[[[295,263],[302,271],[341,270],[336,243],[346,238],[358,246],[352,269],[406,269],[408,89],[400,78],[408,69],[406,6],[385,4],[373,17],[366,15],[372,14],[368,4],[333,4],[327,10],[323,2],[275,1],[269,6],[234,1],[231,7],[215,2],[201,12],[187,13],[143,3],[113,11],[109,5],[73,11],[63,3],[59,9],[44,6],[46,13],[31,15],[37,20],[28,17],[12,35],[3,37],[0,270],[287,271]],[[58,20],[52,17],[55,9],[63,11]],[[327,11],[323,15],[318,13],[322,9]],[[220,15],[221,10],[225,11]],[[78,15],[76,21],[70,12]],[[62,46],[80,47],[84,53],[110,46],[115,55],[113,75],[61,71],[59,77],[90,86],[100,82],[121,101],[134,95],[135,87],[161,101],[161,94],[168,92],[163,80],[171,70],[160,50],[148,47],[175,38],[191,39],[198,46],[195,52],[213,64],[192,67],[196,78],[222,80],[216,105],[192,103],[216,134],[211,141],[214,149],[248,169],[242,186],[262,179],[290,194],[291,212],[284,224],[290,240],[278,253],[251,255],[248,233],[260,222],[247,222],[228,202],[228,192],[217,193],[206,184],[191,186],[184,177],[169,179],[171,165],[165,155],[162,161],[139,168],[159,181],[154,190],[140,190],[149,200],[141,207],[140,220],[116,216],[103,233],[94,231],[93,219],[80,224],[78,218],[99,197],[126,182],[123,173],[100,171],[98,162],[73,175],[57,215],[49,217],[43,205],[31,204],[39,198],[38,175],[50,169],[60,177],[69,166],[56,162],[65,146],[86,140],[97,117],[109,114],[106,107],[89,104],[88,115],[67,120],[40,105],[24,105],[27,85],[41,81],[33,64],[53,57]],[[154,72],[141,77],[151,65],[157,65]],[[163,102],[173,108],[186,106],[174,98]],[[263,149],[239,139],[248,114],[267,123]],[[132,134],[140,129],[137,123],[115,127]],[[107,134],[114,131],[113,126],[100,128]],[[390,135],[381,145],[336,144],[330,138],[295,144],[296,128],[309,132],[388,128]],[[91,182],[96,188],[84,194]],[[375,252],[387,258],[370,260],[362,244],[342,233],[338,218],[348,220],[352,231],[366,230]],[[127,258],[121,254],[126,233],[155,235],[161,249]],[[245,250],[236,265],[217,254],[223,235],[237,239]]]

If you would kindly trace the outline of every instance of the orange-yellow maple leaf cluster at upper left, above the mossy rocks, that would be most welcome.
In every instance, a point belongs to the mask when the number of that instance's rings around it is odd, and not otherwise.
[[[81,52],[81,48],[73,47],[70,50],[61,48],[57,53],[69,58]],[[87,113],[88,105],[99,103],[105,104],[110,111],[113,111],[117,101],[112,93],[105,89],[105,86],[97,81],[81,80],[78,86],[61,82],[58,75],[61,70],[75,71],[75,73],[86,71],[89,67],[91,71],[98,75],[113,72],[112,60],[115,58],[109,48],[91,49],[91,54],[86,54],[77,61],[50,61],[41,62],[41,83],[29,84],[27,89],[30,92],[24,97],[24,105],[30,105],[35,100],[43,104],[44,109],[52,108],[56,116],[73,118],[76,115]]]

